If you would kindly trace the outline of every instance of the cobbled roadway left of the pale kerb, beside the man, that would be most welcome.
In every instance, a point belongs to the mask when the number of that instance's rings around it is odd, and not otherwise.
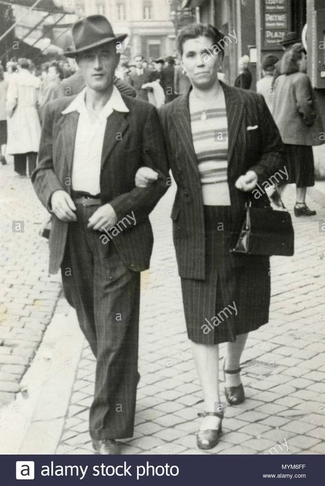
[[[38,232],[47,211],[29,178],[0,167],[0,406],[12,402],[51,321],[61,291],[48,276],[48,246]]]

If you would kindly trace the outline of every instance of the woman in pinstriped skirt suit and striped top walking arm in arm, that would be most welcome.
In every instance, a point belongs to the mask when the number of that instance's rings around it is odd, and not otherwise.
[[[269,318],[269,258],[230,253],[232,235],[241,227],[248,194],[284,163],[263,97],[218,80],[223,38],[212,25],[181,30],[178,51],[191,88],[160,108],[178,186],[171,218],[186,327],[204,395],[201,449],[217,445],[224,417],[219,343],[227,343],[226,400],[237,405],[245,399],[240,359],[248,332]],[[136,185],[156,177],[143,167]],[[269,206],[266,194],[251,200],[254,207]]]

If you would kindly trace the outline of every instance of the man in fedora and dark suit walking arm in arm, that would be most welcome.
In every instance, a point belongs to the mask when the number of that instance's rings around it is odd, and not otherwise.
[[[45,106],[38,167],[40,201],[52,213],[49,272],[61,268],[64,293],[95,355],[89,415],[93,446],[117,452],[132,437],[136,404],[140,272],[149,268],[149,213],[167,190],[167,159],[156,108],[113,84],[119,47],[106,17],[73,25],[86,87]],[[142,165],[156,183],[136,188]]]

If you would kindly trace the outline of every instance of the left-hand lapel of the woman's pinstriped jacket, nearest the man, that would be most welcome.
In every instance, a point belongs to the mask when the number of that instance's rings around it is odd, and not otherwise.
[[[189,112],[189,93],[184,94],[178,98],[178,103],[175,111],[171,115],[173,124],[176,128],[176,133],[180,138],[184,153],[187,155],[193,170],[200,176],[197,168],[197,159],[193,146],[192,129],[191,129],[191,115]]]

